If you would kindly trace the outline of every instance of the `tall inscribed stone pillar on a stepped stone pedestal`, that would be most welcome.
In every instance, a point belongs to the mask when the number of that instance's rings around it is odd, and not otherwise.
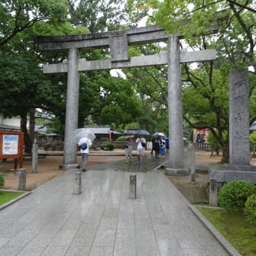
[[[229,164],[211,165],[209,174],[211,206],[218,206],[218,191],[225,182],[248,180],[256,184],[256,167],[250,165],[248,69],[230,72]]]

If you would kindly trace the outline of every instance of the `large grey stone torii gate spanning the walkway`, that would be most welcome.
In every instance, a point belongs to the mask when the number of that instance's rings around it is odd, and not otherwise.
[[[212,28],[209,30],[216,30]],[[168,113],[170,136],[170,164],[166,174],[188,175],[184,169],[184,143],[182,118],[182,93],[180,63],[211,61],[216,59],[216,51],[180,50],[181,35],[166,35],[158,26],[70,36],[34,36],[42,51],[68,51],[68,61],[60,64],[44,65],[44,73],[67,72],[67,104],[65,119],[65,141],[63,170],[77,168],[76,144],[72,142],[72,132],[77,129],[79,72],[112,68],[145,67],[168,65]],[[149,56],[128,56],[128,46],[167,42],[167,51]],[[109,60],[86,61],[79,58],[79,50],[110,48]]]

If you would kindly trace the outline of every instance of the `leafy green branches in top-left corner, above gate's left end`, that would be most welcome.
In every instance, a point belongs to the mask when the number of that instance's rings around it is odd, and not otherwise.
[[[12,45],[19,33],[33,27],[40,20],[60,22],[67,15],[67,1],[4,1],[0,3],[0,51],[10,51],[19,47],[19,42]],[[4,47],[4,49],[3,49]]]

